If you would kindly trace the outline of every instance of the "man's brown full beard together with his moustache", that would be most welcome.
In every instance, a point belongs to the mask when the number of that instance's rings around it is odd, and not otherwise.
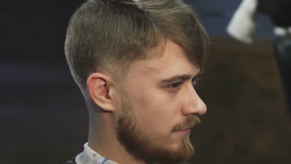
[[[171,145],[167,140],[157,143],[154,136],[143,131],[135,116],[135,110],[123,94],[122,114],[118,119],[117,138],[125,150],[132,157],[146,164],[178,164],[188,161],[194,155],[194,148],[189,139],[189,135],[182,139],[178,144]],[[173,126],[172,132],[180,131],[184,128],[192,127],[200,123],[197,116],[188,118],[183,123],[177,123]]]

